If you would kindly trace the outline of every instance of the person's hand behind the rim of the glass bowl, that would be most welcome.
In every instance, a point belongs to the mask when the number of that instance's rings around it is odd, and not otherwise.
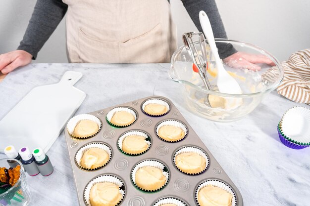
[[[274,62],[264,55],[248,54],[245,52],[237,52],[223,59],[223,62],[233,68],[243,68],[252,71],[259,71],[260,67],[257,63],[265,63],[274,66]]]

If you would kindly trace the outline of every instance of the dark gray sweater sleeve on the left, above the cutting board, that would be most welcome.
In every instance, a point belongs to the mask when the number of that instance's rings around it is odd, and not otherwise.
[[[68,5],[61,0],[37,0],[23,40],[17,49],[27,51],[36,59],[44,43],[65,15]]]

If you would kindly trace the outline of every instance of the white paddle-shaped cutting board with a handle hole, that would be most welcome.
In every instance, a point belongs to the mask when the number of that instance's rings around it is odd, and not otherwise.
[[[0,152],[7,145],[47,152],[86,97],[73,86],[82,76],[68,71],[58,83],[33,88],[0,121]]]

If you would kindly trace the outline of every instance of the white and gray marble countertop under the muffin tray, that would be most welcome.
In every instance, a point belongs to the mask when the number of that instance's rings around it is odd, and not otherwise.
[[[215,123],[186,109],[181,84],[168,77],[169,64],[31,64],[0,83],[0,119],[33,87],[58,82],[67,70],[83,73],[75,86],[87,97],[76,114],[88,113],[150,95],[169,98],[202,138],[239,188],[245,206],[309,206],[310,148],[293,150],[277,135],[282,114],[300,105],[269,94],[250,115],[233,123]],[[309,107],[307,105],[302,105]],[[5,145],[1,145],[5,147]],[[31,206],[77,206],[63,132],[48,152],[54,172],[28,176]],[[4,158],[0,154],[0,158]]]

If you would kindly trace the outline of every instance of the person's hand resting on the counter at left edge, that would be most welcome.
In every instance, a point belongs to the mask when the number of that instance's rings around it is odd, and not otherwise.
[[[24,50],[15,50],[0,55],[0,71],[7,74],[17,67],[25,66],[31,62],[32,55]]]

